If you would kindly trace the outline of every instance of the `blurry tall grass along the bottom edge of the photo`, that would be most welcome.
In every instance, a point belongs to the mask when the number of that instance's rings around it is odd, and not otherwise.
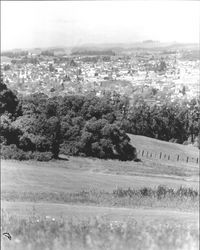
[[[5,250],[175,250],[199,249],[198,228],[180,221],[154,223],[108,221],[103,217],[88,219],[55,219],[33,214],[22,219],[2,214],[2,232],[9,232],[12,240],[2,238]]]

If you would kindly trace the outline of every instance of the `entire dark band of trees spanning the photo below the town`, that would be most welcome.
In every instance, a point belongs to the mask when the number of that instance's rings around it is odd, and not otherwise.
[[[126,133],[199,147],[197,100],[150,106],[140,98],[130,105],[128,98],[110,93],[17,98],[2,80],[0,91],[0,141],[22,151],[133,160],[135,148]]]

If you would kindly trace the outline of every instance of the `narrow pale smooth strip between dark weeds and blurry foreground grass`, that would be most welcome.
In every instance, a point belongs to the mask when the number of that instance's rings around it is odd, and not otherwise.
[[[72,205],[45,202],[7,202],[2,203],[2,210],[20,218],[29,216],[52,217],[59,219],[104,217],[108,221],[124,221],[135,219],[138,222],[153,222],[154,220],[177,220],[197,226],[198,211],[177,211],[173,209],[152,208],[116,208],[104,206]]]

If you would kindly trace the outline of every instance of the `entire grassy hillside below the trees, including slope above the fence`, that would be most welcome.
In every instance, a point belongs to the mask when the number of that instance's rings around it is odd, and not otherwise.
[[[132,139],[146,150],[198,155],[189,146]],[[2,232],[13,237],[2,237],[5,250],[199,249],[197,164],[1,160],[1,192]]]

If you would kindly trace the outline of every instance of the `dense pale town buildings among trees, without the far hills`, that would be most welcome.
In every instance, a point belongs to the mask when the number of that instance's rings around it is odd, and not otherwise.
[[[5,57],[1,60],[4,82],[22,95],[43,92],[53,96],[93,91],[101,96],[109,91],[130,99],[140,94],[150,102],[159,103],[163,93],[171,100],[192,99],[200,94],[200,61],[182,60],[180,52],[29,57],[36,60],[24,62],[21,58],[5,60]]]

